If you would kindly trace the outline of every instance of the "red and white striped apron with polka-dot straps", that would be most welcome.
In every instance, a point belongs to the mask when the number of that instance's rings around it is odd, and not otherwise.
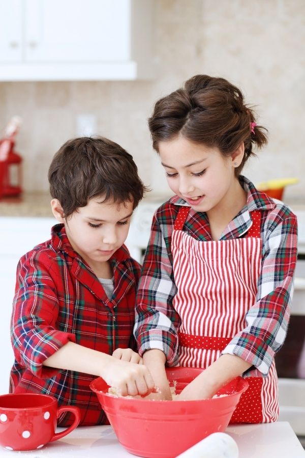
[[[177,294],[179,363],[208,367],[232,338],[247,326],[255,303],[261,269],[260,212],[252,212],[247,237],[202,242],[182,231],[190,207],[181,207],[172,234],[173,272]],[[267,377],[248,377],[230,423],[276,421],[278,378],[273,361]]]

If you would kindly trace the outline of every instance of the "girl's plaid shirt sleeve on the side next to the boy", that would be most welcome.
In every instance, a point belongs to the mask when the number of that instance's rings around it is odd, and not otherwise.
[[[162,350],[169,366],[178,364],[180,318],[172,307],[175,294],[172,263],[155,214],[139,282],[134,334],[140,355]]]

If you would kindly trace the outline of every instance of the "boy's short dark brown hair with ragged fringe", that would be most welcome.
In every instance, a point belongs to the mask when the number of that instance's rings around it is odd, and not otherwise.
[[[48,179],[66,218],[96,196],[117,204],[132,201],[135,209],[147,191],[132,156],[104,137],[68,140],[55,153]]]

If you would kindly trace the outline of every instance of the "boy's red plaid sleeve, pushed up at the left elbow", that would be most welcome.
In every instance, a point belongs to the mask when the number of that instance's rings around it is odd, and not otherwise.
[[[76,340],[74,334],[56,329],[59,307],[51,263],[48,256],[34,250],[21,258],[11,319],[16,361],[40,378],[60,372],[43,366],[43,362],[68,341]]]

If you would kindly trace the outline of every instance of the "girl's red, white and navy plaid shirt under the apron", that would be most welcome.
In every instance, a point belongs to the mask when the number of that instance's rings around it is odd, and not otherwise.
[[[247,371],[247,376],[261,376],[267,375],[287,333],[297,257],[297,221],[287,206],[259,192],[245,177],[240,177],[240,183],[248,192],[247,206],[228,224],[220,240],[245,236],[252,224],[250,212],[261,211],[262,266],[256,302],[246,316],[247,327],[229,342],[223,353],[252,363],[254,368]],[[160,349],[169,366],[178,364],[180,317],[172,307],[177,290],[171,236],[181,205],[188,204],[173,196],[155,213],[138,288],[134,328],[139,353]],[[184,231],[196,240],[212,240],[203,212],[191,209]]]

